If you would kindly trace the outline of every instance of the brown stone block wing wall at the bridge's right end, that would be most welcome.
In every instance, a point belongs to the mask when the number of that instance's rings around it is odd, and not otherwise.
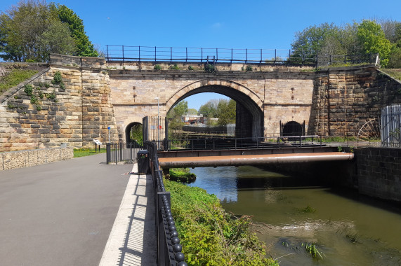
[[[381,109],[401,103],[401,83],[376,66],[316,73],[309,134],[355,136]]]

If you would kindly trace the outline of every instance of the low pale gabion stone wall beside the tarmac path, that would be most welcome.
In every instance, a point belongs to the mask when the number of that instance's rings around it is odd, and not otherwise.
[[[74,149],[72,147],[11,151],[0,153],[0,170],[44,165],[48,162],[57,162],[71,158],[74,158]]]

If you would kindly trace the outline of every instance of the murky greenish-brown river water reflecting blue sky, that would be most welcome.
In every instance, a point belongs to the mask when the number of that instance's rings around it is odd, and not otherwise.
[[[191,169],[235,215],[254,216],[272,258],[287,265],[401,265],[401,208],[255,167]],[[323,259],[306,253],[315,243]],[[319,256],[318,256],[319,257]]]

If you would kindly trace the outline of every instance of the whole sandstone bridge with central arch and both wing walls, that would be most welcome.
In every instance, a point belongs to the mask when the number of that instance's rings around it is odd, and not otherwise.
[[[157,116],[158,109],[166,116],[180,100],[202,92],[234,99],[237,137],[254,138],[278,134],[280,121],[305,121],[308,134],[355,136],[382,106],[401,102],[401,84],[373,65],[316,71],[222,63],[209,73],[199,63],[158,62],[159,70],[155,64],[51,55],[47,69],[0,97],[0,151],[93,146],[109,132],[110,140],[125,140],[143,117]],[[245,71],[249,65],[252,71]],[[63,84],[54,82],[57,72]],[[34,88],[30,96],[25,85]]]

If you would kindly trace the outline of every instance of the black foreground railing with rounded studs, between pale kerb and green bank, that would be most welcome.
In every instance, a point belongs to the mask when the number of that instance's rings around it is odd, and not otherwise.
[[[187,266],[185,256],[181,252],[176,223],[171,214],[170,193],[166,192],[163,183],[162,170],[157,158],[157,144],[145,141],[149,152],[150,173],[152,174],[155,191],[156,228],[157,228],[157,265]]]

